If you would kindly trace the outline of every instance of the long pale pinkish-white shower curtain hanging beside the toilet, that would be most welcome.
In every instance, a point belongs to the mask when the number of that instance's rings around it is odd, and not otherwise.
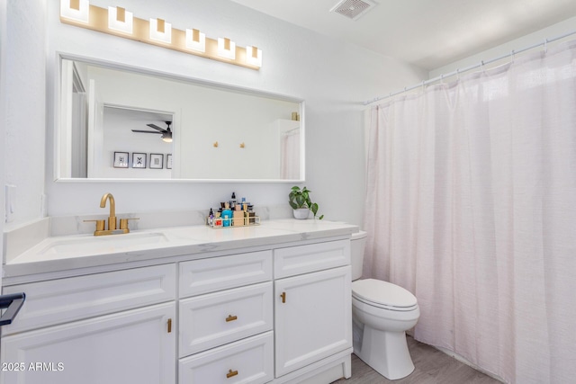
[[[374,107],[365,276],[417,340],[513,383],[576,382],[576,42]]]

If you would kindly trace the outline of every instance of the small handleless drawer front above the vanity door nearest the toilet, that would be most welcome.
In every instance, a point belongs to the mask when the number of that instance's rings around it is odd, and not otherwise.
[[[350,264],[350,240],[308,246],[290,246],[274,251],[276,279]]]

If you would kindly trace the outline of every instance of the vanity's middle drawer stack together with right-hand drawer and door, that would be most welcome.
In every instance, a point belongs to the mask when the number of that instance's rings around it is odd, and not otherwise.
[[[350,377],[349,264],[349,240],[181,263],[179,382]]]

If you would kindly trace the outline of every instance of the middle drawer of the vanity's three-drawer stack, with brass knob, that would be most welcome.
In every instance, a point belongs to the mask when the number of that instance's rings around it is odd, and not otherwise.
[[[180,300],[180,357],[273,327],[272,282]]]

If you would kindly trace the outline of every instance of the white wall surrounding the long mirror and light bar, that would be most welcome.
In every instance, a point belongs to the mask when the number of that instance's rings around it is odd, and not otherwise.
[[[17,2],[21,3],[21,2]],[[142,210],[207,209],[230,192],[257,205],[286,203],[291,183],[54,183],[53,104],[56,52],[147,67],[178,76],[286,94],[306,101],[306,178],[327,219],[361,224],[365,168],[362,101],[427,74],[391,58],[342,44],[227,0],[169,0],[122,5],[136,16],[162,17],[175,28],[193,26],[211,38],[227,36],[239,46],[264,52],[259,71],[160,49],[136,41],[62,24],[58,0],[48,0],[49,121],[46,191],[49,215],[99,213],[103,192],[116,197],[118,213]],[[107,6],[108,1],[92,4]],[[193,24],[193,25],[191,25]],[[137,192],[137,193],[136,193]],[[157,200],[157,196],[166,199]],[[153,202],[151,202],[153,201]]]

